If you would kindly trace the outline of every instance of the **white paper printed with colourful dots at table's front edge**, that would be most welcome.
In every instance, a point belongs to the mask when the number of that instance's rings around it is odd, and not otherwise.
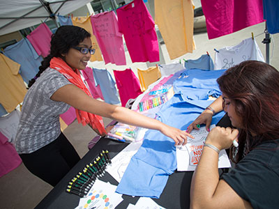
[[[96,180],[86,197],[80,199],[75,209],[116,208],[123,201],[122,194],[115,192],[116,186]]]

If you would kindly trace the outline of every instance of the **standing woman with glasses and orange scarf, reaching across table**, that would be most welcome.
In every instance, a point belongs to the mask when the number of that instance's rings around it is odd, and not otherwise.
[[[29,82],[16,136],[17,152],[24,165],[39,178],[55,186],[80,160],[75,148],[60,130],[59,115],[75,107],[77,120],[105,135],[100,116],[139,127],[159,130],[186,144],[190,134],[135,111],[91,97],[80,70],[94,54],[90,33],[78,26],[61,26],[52,35],[50,54],[36,77]]]

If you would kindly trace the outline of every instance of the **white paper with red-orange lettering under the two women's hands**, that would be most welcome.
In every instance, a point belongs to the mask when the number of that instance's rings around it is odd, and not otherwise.
[[[210,126],[210,130],[215,125]],[[195,171],[199,157],[202,155],[202,149],[204,148],[205,139],[209,132],[206,131],[205,126],[200,127],[199,130],[193,130],[190,134],[195,139],[188,137],[188,142],[185,146],[176,146],[176,161],[177,171]],[[231,164],[225,150],[221,150],[219,153],[218,168],[229,168]]]

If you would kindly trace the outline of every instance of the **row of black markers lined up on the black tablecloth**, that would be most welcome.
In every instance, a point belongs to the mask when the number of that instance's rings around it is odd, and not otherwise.
[[[70,180],[66,192],[76,194],[80,197],[86,196],[95,180],[105,175],[107,164],[111,164],[110,153],[108,150],[103,150],[95,160],[86,164],[84,169]]]

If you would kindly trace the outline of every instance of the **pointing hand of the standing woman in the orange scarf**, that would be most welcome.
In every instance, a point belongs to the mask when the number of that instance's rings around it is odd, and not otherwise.
[[[194,137],[191,134],[188,134],[186,131],[179,130],[178,128],[171,127],[169,125],[164,125],[160,132],[165,134],[167,137],[174,139],[175,146],[187,144],[187,137],[194,139]]]

